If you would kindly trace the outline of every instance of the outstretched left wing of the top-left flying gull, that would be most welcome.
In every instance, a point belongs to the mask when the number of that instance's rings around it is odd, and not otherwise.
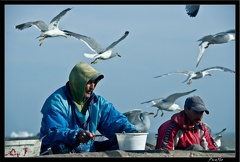
[[[26,23],[19,24],[19,25],[15,26],[15,28],[19,29],[19,30],[24,30],[24,29],[30,28],[32,26],[35,26],[37,29],[39,29],[42,32],[45,32],[48,30],[48,25],[43,21],[29,21]]]

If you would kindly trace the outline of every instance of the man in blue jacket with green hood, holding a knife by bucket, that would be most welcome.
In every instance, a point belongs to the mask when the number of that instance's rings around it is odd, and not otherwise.
[[[93,91],[104,76],[85,62],[77,63],[69,81],[45,101],[40,128],[41,155],[117,150],[115,133],[137,132],[134,125]],[[108,140],[94,141],[100,132]]]

